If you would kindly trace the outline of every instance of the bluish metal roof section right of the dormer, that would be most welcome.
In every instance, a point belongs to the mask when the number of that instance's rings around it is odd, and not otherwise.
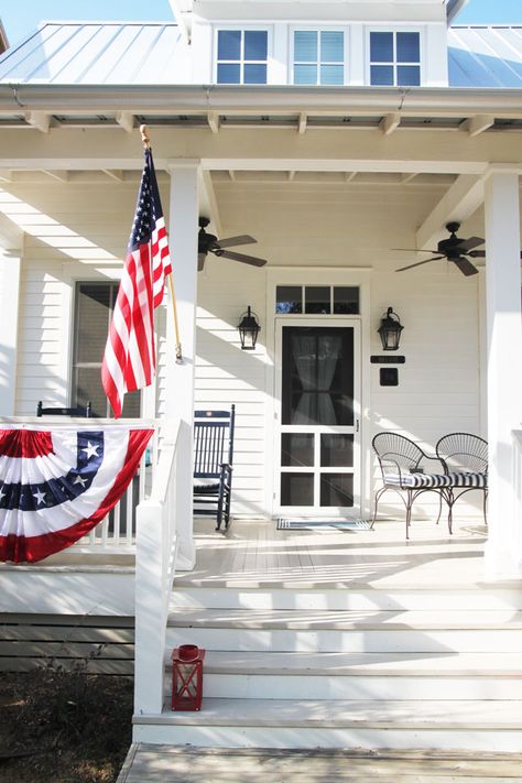
[[[448,30],[450,87],[522,87],[522,26]]]

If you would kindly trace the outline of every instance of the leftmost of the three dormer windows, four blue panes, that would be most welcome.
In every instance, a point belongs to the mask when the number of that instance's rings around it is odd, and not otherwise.
[[[218,30],[217,83],[265,85],[268,48],[267,30]]]

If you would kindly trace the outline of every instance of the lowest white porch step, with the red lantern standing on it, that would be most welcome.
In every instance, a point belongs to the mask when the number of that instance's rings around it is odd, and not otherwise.
[[[134,716],[134,741],[228,748],[520,751],[522,703],[205,698],[199,713]]]

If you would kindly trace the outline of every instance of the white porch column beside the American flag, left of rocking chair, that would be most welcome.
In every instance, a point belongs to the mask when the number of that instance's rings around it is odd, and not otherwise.
[[[167,312],[167,391],[165,412],[178,418],[176,471],[176,520],[180,536],[176,570],[194,568],[193,540],[193,421],[194,365],[196,355],[197,232],[199,161],[181,161],[171,167],[170,247],[177,301],[183,363],[175,361],[175,334],[171,308]]]

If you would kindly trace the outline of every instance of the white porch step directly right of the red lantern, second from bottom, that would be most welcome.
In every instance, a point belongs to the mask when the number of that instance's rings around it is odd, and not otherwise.
[[[207,652],[204,690],[218,698],[522,699],[519,653]],[[452,706],[452,705],[449,705]]]

